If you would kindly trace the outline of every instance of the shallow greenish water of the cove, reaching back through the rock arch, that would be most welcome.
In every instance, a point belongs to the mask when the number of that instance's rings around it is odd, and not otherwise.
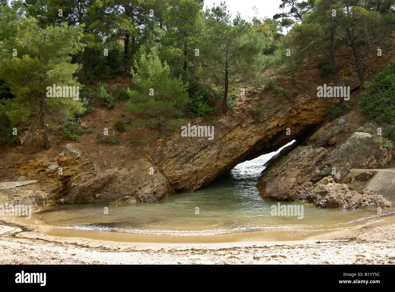
[[[280,202],[303,206],[303,218],[272,216],[278,201],[262,199],[256,182],[274,153],[237,165],[209,186],[190,193],[171,195],[157,203],[118,207],[108,203],[80,203],[47,207],[36,213],[36,224],[58,228],[116,231],[151,235],[215,235],[227,233],[328,230],[363,225],[379,218],[377,207],[356,210],[319,209],[308,203]],[[104,214],[108,207],[108,214]],[[197,209],[199,208],[199,214]],[[394,212],[383,208],[382,213]],[[384,215],[381,215],[384,216]]]

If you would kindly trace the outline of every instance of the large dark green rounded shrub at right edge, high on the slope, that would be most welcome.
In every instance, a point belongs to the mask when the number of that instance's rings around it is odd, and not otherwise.
[[[361,112],[378,123],[395,123],[395,62],[377,74],[361,95]]]

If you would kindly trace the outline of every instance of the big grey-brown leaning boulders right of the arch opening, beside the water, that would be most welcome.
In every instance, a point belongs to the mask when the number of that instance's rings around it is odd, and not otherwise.
[[[357,132],[347,138],[346,127],[347,119],[337,118],[318,129],[309,138],[307,144],[312,146],[299,146],[273,161],[263,171],[256,185],[260,195],[277,200],[303,200],[312,186],[326,176],[330,175],[335,183],[354,183],[360,179],[359,176],[347,176],[352,168],[376,169],[389,163],[392,155],[382,143],[376,141],[369,133]],[[364,177],[364,180],[367,180],[372,175],[369,170],[363,171],[361,179]],[[340,200],[331,189],[332,192],[329,192],[325,199],[313,201],[320,207],[341,208],[354,208],[369,202],[369,196],[365,196],[363,191],[352,197],[354,191],[351,192],[346,185],[344,186],[344,189],[339,187],[338,190],[346,199]],[[355,190],[359,192],[362,188]]]

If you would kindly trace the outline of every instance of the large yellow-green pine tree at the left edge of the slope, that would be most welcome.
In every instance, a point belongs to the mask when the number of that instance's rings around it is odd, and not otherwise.
[[[78,64],[71,64],[71,55],[81,51],[81,27],[48,26],[41,28],[32,18],[15,20],[14,36],[0,40],[0,78],[12,84],[14,99],[3,100],[0,110],[13,125],[27,122],[32,138],[51,147],[50,133],[65,119],[83,112],[79,100],[71,97],[49,97],[47,87],[79,86],[73,74]],[[15,27],[15,23],[1,23]]]

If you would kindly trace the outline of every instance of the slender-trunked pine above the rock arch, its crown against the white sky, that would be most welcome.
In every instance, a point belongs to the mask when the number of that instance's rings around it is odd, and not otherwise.
[[[203,56],[205,67],[213,78],[224,85],[222,113],[228,106],[229,85],[252,81],[260,75],[261,57],[272,40],[273,33],[266,23],[254,27],[237,15],[230,21],[226,5],[206,10],[207,32]]]

